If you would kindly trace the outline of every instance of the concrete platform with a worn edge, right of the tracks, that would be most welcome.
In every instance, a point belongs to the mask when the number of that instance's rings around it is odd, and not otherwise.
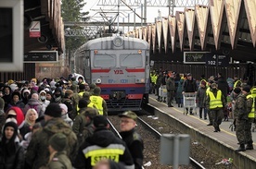
[[[200,119],[198,115],[184,115],[184,108],[178,107],[173,103],[174,107],[167,107],[166,103],[156,101],[156,96],[150,94],[149,104],[155,108],[156,116],[163,117],[167,123],[172,123],[174,127],[179,128],[184,134],[189,134],[192,139],[196,139],[211,151],[222,154],[226,158],[233,158],[233,163],[238,168],[255,169],[256,168],[256,144],[253,143],[252,151],[236,152],[239,147],[237,145],[236,132],[231,131],[230,124],[233,119],[224,121],[220,128],[221,132],[213,132],[214,128],[207,126],[209,120]],[[172,116],[173,118],[164,118],[164,116]],[[256,141],[256,131],[252,132],[253,140]]]

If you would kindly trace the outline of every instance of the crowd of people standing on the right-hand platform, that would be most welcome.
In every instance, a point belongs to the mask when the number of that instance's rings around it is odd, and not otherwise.
[[[150,73],[150,93],[157,95],[157,101],[173,107],[184,106],[186,93],[194,93],[199,109],[199,118],[207,120],[207,126],[213,126],[214,132],[221,132],[220,125],[233,115],[238,144],[236,151],[253,150],[251,127],[255,124],[256,87],[251,87],[235,76],[224,78],[222,73],[216,77],[196,80],[191,73],[178,74],[173,71],[152,70]],[[166,90],[167,94],[162,94]],[[194,115],[195,106],[186,107],[186,114]]]

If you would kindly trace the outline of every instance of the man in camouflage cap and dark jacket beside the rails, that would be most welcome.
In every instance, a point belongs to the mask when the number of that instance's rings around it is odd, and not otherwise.
[[[128,111],[119,116],[121,117],[120,135],[132,154],[135,169],[142,169],[144,143],[140,135],[135,131],[137,115],[132,111]]]

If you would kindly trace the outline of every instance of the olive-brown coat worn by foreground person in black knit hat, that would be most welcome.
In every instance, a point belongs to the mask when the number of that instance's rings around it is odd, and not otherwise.
[[[72,161],[77,153],[77,138],[70,126],[61,118],[52,118],[45,127],[35,132],[26,153],[26,162],[35,169],[46,166],[49,161],[48,140],[56,133],[63,133],[68,139],[65,151]]]

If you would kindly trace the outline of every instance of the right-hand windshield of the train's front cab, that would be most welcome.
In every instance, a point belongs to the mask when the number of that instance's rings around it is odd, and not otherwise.
[[[120,64],[127,67],[141,67],[143,66],[142,56],[141,54],[121,54]]]

